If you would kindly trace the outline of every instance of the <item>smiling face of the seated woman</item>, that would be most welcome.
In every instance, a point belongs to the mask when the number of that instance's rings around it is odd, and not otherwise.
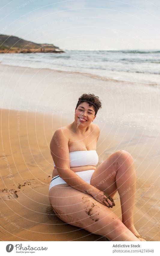
[[[75,121],[77,125],[88,126],[95,119],[94,107],[90,107],[89,103],[83,102],[75,109]]]

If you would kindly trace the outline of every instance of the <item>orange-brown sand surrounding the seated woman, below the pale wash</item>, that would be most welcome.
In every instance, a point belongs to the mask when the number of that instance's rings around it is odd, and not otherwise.
[[[1,110],[1,241],[106,241],[59,220],[48,199],[53,170],[50,140],[57,128],[72,120],[47,113]],[[134,223],[147,241],[159,241],[158,135],[152,134],[145,144],[147,131],[140,141],[139,133],[133,139],[131,130],[123,140],[121,129],[113,140],[115,133],[114,128],[110,136],[104,130],[101,133],[97,147],[99,164],[118,149],[132,154],[137,173]],[[121,217],[118,194],[115,203],[112,210]]]

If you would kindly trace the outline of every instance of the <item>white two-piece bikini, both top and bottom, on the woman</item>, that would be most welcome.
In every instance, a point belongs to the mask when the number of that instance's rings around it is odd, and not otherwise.
[[[98,154],[96,150],[83,150],[83,151],[73,151],[69,153],[70,157],[70,167],[78,167],[78,166],[86,166],[93,165],[96,166],[98,164]],[[53,162],[54,167],[55,163]],[[85,182],[91,182],[92,174],[95,170],[87,170],[81,172],[75,172],[81,179]],[[50,182],[49,190],[59,184],[67,184],[59,175],[55,176]]]

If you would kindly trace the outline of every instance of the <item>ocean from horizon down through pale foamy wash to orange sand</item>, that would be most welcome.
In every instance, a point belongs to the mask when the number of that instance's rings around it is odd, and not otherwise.
[[[102,100],[98,124],[159,131],[158,50],[0,54],[0,63],[1,108],[73,117],[78,97],[92,92]]]

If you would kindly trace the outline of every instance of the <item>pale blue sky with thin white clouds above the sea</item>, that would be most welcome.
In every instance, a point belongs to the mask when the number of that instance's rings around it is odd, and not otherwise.
[[[1,0],[0,34],[61,49],[160,49],[159,0]]]

